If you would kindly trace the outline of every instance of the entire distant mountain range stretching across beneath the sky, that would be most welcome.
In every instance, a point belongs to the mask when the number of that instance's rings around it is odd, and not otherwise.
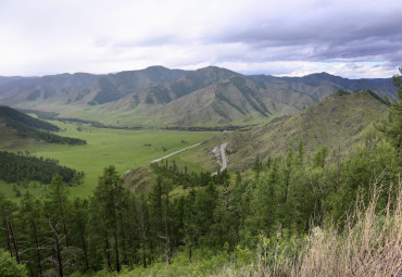
[[[247,76],[216,66],[151,66],[108,75],[0,77],[0,104],[123,126],[248,125],[294,114],[339,90],[362,89],[395,97],[391,78]]]

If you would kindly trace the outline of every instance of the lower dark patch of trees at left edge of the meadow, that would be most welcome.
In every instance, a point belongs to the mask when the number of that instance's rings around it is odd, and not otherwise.
[[[61,166],[56,160],[0,152],[0,179],[7,182],[36,180],[50,184],[55,174],[68,184],[79,184],[84,177],[83,172]]]

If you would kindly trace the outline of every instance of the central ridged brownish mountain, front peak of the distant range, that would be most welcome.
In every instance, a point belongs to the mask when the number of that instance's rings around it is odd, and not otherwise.
[[[167,125],[242,125],[294,113],[314,102],[306,95],[269,91],[246,76],[236,75],[138,115],[163,118]]]

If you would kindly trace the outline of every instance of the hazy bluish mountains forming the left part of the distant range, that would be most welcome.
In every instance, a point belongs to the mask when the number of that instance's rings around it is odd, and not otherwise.
[[[184,74],[179,70],[151,66],[108,75],[76,73],[43,77],[3,77],[0,83],[0,99],[3,104],[20,108],[43,109],[46,103],[102,104],[138,89],[176,80]]]

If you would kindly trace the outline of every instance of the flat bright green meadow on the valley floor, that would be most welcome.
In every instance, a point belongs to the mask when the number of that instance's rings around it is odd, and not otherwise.
[[[123,175],[125,172],[146,165],[152,160],[167,155],[174,151],[208,140],[217,135],[213,131],[174,131],[174,130],[125,130],[95,128],[85,124],[65,124],[52,122],[63,131],[58,135],[85,139],[86,146],[49,144],[49,143],[17,143],[17,148],[9,148],[8,151],[28,150],[37,158],[52,158],[66,165],[86,174],[84,182],[71,189],[73,198],[86,198],[91,194],[98,182],[98,176],[102,174],[105,166],[114,165]],[[201,146],[200,146],[201,147]],[[199,150],[190,149],[197,152]],[[186,151],[185,151],[186,152]],[[184,152],[181,152],[184,153]],[[176,156],[172,156],[173,160]],[[178,159],[179,166],[187,165],[189,169],[202,168],[194,161]],[[206,169],[208,163],[204,163]],[[40,184],[28,185],[28,189],[36,196],[43,193]],[[18,186],[23,193],[26,187]],[[12,185],[0,182],[0,190],[8,196],[15,193]]]

